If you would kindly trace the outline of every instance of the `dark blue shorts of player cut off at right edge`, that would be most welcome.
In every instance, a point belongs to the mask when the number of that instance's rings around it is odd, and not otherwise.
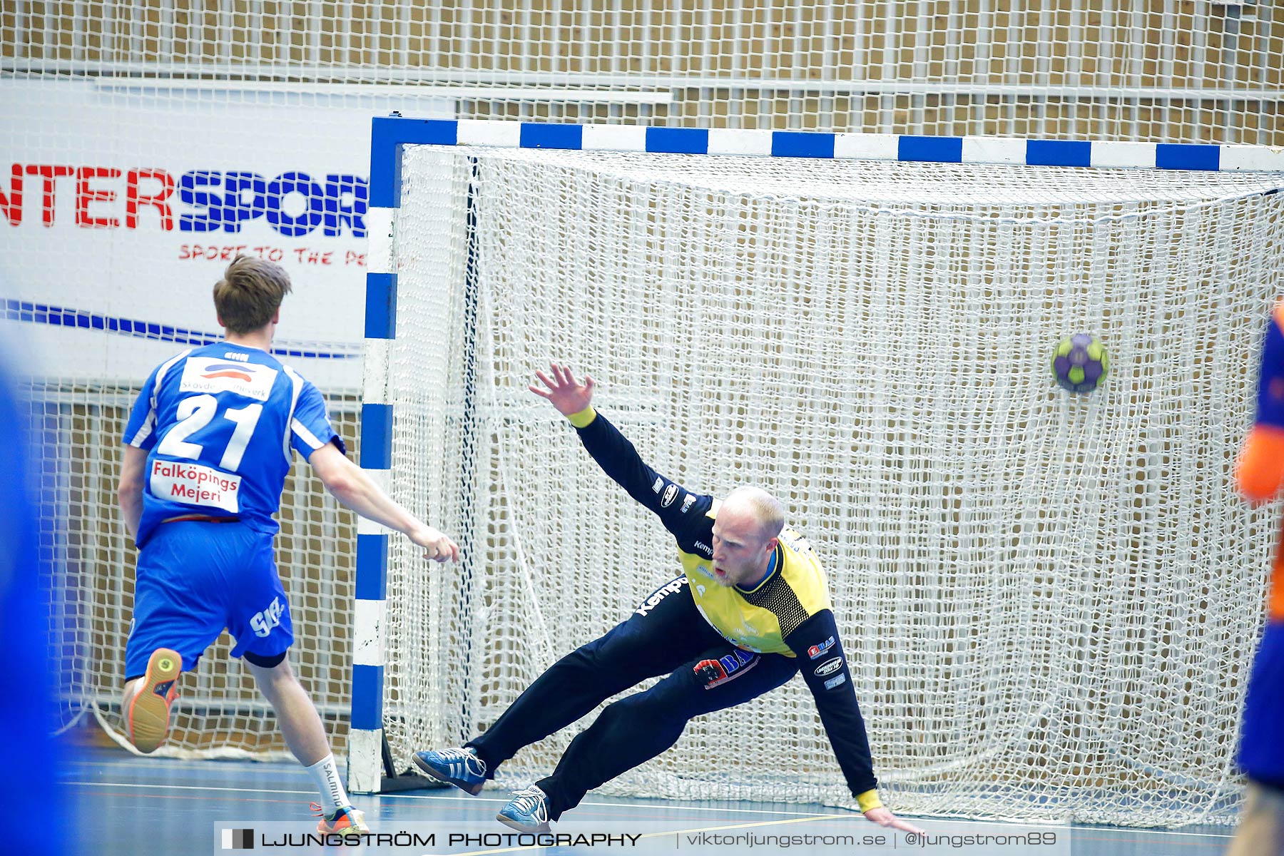
[[[1244,699],[1239,769],[1249,779],[1284,788],[1284,621],[1266,625]]]

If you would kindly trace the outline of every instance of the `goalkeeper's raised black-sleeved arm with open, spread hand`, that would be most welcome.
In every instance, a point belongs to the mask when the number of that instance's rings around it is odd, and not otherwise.
[[[550,373],[551,376],[537,371],[535,377],[544,388],[532,384],[528,389],[548,399],[559,413],[570,420],[584,449],[593,456],[606,475],[630,497],[659,515],[665,527],[675,535],[681,535],[691,521],[704,517],[713,504],[713,498],[691,494],[695,499],[688,501],[686,489],[648,467],[619,429],[593,409],[596,382],[592,377],[586,376],[580,384],[569,367],[557,363],[552,364]]]

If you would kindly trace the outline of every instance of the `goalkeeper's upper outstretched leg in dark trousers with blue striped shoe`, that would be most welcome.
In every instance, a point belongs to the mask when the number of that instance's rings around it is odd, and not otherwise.
[[[478,793],[494,769],[524,746],[542,740],[602,699],[663,675],[722,640],[696,608],[686,578],[661,585],[606,635],[553,663],[465,749],[419,752],[415,764],[435,779]],[[475,758],[466,757],[473,749]]]

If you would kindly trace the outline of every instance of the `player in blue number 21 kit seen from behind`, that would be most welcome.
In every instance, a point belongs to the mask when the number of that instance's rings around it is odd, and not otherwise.
[[[214,285],[225,340],[190,348],[148,377],[125,429],[119,504],[139,548],[125,646],[130,740],[153,752],[169,728],[178,676],[226,628],[271,702],[286,746],[321,793],[322,832],[365,832],[325,728],[290,670],[290,606],[276,572],[272,517],[297,452],[334,497],[404,533],[425,558],[458,547],[393,502],[345,457],[316,386],[270,353],[289,276],[239,257]]]

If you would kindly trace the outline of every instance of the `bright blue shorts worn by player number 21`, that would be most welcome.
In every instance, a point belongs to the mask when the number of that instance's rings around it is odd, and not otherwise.
[[[146,672],[157,648],[195,669],[227,628],[234,657],[279,657],[294,642],[272,535],[239,522],[162,524],[139,552],[126,679]]]

